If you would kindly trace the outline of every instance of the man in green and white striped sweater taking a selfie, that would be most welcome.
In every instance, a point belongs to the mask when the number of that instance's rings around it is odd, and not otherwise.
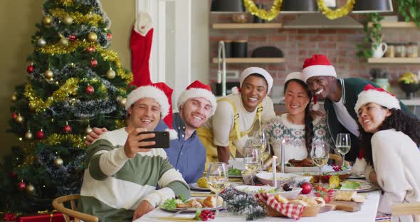
[[[167,199],[189,198],[189,186],[162,148],[144,149],[162,118],[172,126],[172,89],[154,83],[127,97],[127,127],[105,132],[86,152],[78,210],[100,221],[134,221]],[[170,129],[169,131],[172,131]],[[159,187],[159,189],[157,189]]]

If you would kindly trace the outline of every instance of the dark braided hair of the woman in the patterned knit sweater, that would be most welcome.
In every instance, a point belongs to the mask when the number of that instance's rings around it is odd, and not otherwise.
[[[303,89],[305,89],[306,94],[309,97],[309,103],[308,105],[306,105],[305,107],[305,146],[306,149],[308,150],[308,155],[310,154],[310,147],[312,147],[312,139],[313,139],[313,118],[310,115],[309,112],[309,108],[310,108],[310,101],[312,100],[312,93],[310,93],[310,90],[308,88],[308,85],[306,85],[305,82],[303,82],[302,80],[298,80],[298,79],[291,79],[288,80],[285,85],[284,85],[284,91],[283,93],[286,93],[286,90],[288,88],[288,85],[290,82],[295,82],[298,83],[300,86],[302,86]]]

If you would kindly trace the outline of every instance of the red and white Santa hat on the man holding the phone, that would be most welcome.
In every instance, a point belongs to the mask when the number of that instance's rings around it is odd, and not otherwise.
[[[177,131],[172,127],[172,88],[169,88],[165,83],[152,83],[149,85],[143,85],[139,88],[132,90],[127,96],[125,102],[125,110],[128,110],[132,104],[137,102],[144,97],[154,99],[160,105],[161,119],[167,124],[169,137],[171,139],[177,139]]]

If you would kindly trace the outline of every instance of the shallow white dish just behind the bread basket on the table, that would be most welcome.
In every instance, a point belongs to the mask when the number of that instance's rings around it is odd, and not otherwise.
[[[242,191],[247,194],[281,194],[286,199],[295,199],[302,191],[300,187],[293,187],[290,191],[285,191],[283,188],[278,187],[277,189],[273,186],[236,186],[235,189]]]

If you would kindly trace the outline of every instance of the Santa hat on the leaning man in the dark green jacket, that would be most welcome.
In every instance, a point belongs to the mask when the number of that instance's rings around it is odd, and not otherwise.
[[[305,59],[302,68],[304,82],[314,76],[333,76],[337,78],[334,66],[324,55],[313,55],[312,58]]]

